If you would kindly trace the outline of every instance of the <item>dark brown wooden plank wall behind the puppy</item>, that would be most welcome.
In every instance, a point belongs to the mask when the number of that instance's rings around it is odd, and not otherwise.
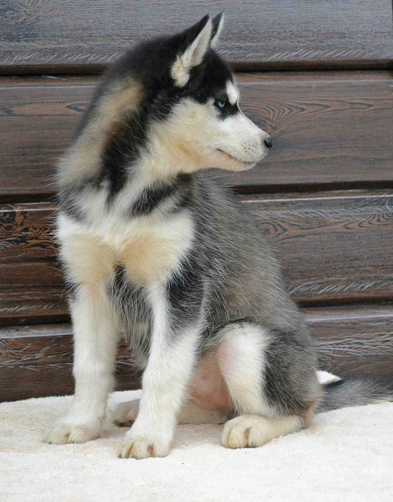
[[[220,173],[276,247],[320,365],[393,373],[390,0],[0,4],[0,400],[72,392],[71,327],[52,241],[52,166],[99,73],[125,47],[225,10],[221,53],[245,113],[274,137]],[[125,347],[118,388],[139,375]]]

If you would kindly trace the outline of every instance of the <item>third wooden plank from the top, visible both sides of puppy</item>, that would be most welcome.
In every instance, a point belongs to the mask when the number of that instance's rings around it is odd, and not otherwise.
[[[242,196],[276,247],[285,281],[303,306],[393,298],[393,196],[388,191]],[[67,319],[51,231],[54,206],[0,211],[0,319]]]

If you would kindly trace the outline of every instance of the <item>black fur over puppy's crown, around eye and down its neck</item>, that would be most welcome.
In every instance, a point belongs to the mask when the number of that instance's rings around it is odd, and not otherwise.
[[[195,34],[199,33],[206,22],[207,17],[180,34],[140,44],[128,50],[106,70],[82,117],[77,136],[94,116],[103,96],[110,96],[113,83],[127,78],[134,79],[141,84],[144,94],[138,109],[128,114],[124,111],[115,130],[108,131],[100,174],[100,180],[107,181],[108,202],[123,188],[127,178],[132,176],[133,165],[147,148],[151,120],[167,118],[174,105],[183,98],[191,98],[201,104],[223,95],[227,100],[226,83],[228,80],[232,81],[233,76],[225,62],[211,48],[207,50],[202,62],[190,70],[190,77],[184,87],[178,87],[171,77],[171,68],[177,56],[194,40]],[[229,113],[237,111],[237,105],[229,105],[226,110]],[[225,114],[220,116],[224,117]],[[90,181],[86,183],[90,184]]]

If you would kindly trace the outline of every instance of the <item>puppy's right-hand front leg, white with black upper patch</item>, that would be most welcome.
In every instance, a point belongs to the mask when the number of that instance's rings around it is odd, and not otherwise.
[[[201,333],[202,284],[195,279],[194,271],[183,267],[176,277],[150,289],[153,329],[149,361],[138,416],[125,434],[121,458],[169,453]]]

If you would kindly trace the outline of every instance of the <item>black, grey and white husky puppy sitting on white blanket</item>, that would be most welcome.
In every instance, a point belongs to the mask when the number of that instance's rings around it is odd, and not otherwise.
[[[206,168],[272,147],[215,52],[224,16],[128,51],[97,88],[57,170],[75,397],[48,443],[101,434],[119,333],[144,370],[119,456],[163,457],[177,423],[225,423],[228,448],[307,427],[316,411],[391,398],[377,381],[321,386],[315,347],[244,205]]]

